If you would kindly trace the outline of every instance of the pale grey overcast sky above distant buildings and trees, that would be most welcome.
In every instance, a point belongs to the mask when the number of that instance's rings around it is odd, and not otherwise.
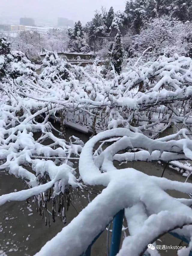
[[[82,23],[90,21],[94,11],[101,6],[107,9],[113,6],[115,11],[125,10],[126,0],[2,0],[0,16],[32,17],[57,21],[57,17],[65,17]]]

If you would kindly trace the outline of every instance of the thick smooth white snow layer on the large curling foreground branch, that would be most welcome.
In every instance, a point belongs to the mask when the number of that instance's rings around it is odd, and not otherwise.
[[[98,157],[93,158],[93,147],[98,141],[119,136],[123,137],[108,146]],[[192,209],[187,206],[191,200],[177,200],[166,193],[167,189],[190,193],[191,183],[148,176],[133,168],[117,170],[113,166],[113,156],[127,147],[142,146],[150,152],[157,148],[161,152],[179,152],[182,150],[182,144],[189,146],[190,140],[152,140],[125,128],[104,131],[92,137],[82,149],[79,173],[86,184],[102,184],[107,188],[36,255],[52,255],[54,251],[57,251],[58,255],[81,254],[123,208],[130,236],[125,238],[118,255],[139,255],[146,251],[147,244],[155,242],[163,233],[175,228],[175,232],[179,232],[178,227],[192,224]],[[182,234],[190,237],[192,229],[191,226],[188,227],[190,228],[182,228]],[[73,246],[70,246],[72,244]]]

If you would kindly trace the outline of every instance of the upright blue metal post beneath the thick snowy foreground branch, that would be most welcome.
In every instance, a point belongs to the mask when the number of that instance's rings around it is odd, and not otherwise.
[[[110,256],[115,256],[119,252],[122,226],[123,226],[124,209],[119,211],[113,219],[113,232],[111,238]]]

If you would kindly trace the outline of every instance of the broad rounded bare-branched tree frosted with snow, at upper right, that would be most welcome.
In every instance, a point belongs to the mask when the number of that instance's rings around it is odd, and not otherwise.
[[[192,47],[187,40],[190,35],[190,23],[183,24],[179,20],[171,20],[169,16],[162,16],[145,23],[145,28],[134,37],[132,44],[135,53],[139,55],[150,47],[145,56],[156,59],[163,54],[167,56],[173,56],[174,53],[187,54]]]

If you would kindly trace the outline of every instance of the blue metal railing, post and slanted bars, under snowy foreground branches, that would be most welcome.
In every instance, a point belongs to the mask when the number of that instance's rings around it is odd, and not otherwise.
[[[112,237],[111,237],[110,256],[116,256],[116,254],[119,252],[121,236],[122,236],[123,217],[124,217],[124,209],[120,210],[113,218],[113,231],[112,231]],[[95,237],[95,239],[88,246],[87,250],[80,256],[91,256],[91,246],[95,243],[95,241],[99,238],[99,236],[103,233],[103,231],[101,231],[101,233],[99,233]],[[186,237],[179,236],[175,232],[169,232],[169,234],[189,244],[189,241],[187,240]],[[147,255],[144,254],[143,256],[147,256]],[[192,256],[192,251],[190,251],[189,256]]]

